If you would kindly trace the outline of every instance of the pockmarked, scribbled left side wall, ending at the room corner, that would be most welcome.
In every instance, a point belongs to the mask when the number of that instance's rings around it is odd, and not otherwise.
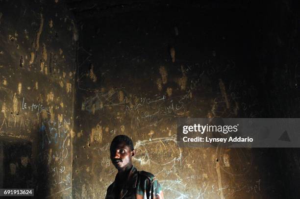
[[[15,179],[31,166],[19,188],[34,188],[37,198],[71,198],[77,36],[60,0],[0,0],[0,141],[32,146],[28,164],[4,162],[4,175]]]

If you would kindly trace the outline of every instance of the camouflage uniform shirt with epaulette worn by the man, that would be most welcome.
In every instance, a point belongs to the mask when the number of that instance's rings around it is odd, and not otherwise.
[[[117,176],[115,181],[107,188],[105,199],[158,199],[157,194],[160,194],[161,199],[164,198],[161,186],[154,175],[149,172],[137,171],[134,166],[128,174],[120,196],[116,196],[117,194],[114,193],[116,180]]]

